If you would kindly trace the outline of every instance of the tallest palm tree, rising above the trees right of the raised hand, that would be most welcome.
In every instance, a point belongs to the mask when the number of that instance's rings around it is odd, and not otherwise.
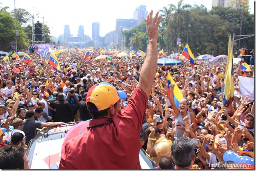
[[[169,11],[170,11],[170,19],[176,19],[177,20],[177,33],[179,33],[179,22],[182,20],[181,14],[186,13],[189,8],[191,7],[189,4],[183,5],[183,0],[180,0],[178,2],[178,6],[176,7],[173,4],[169,4]],[[174,13],[172,13],[174,12]]]

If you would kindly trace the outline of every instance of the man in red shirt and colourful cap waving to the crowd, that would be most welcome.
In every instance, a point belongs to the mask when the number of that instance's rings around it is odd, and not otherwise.
[[[147,58],[126,108],[120,110],[125,92],[109,83],[93,85],[86,96],[92,120],[69,130],[61,149],[59,169],[141,169],[140,130],[157,66],[158,26],[161,16],[147,15]]]

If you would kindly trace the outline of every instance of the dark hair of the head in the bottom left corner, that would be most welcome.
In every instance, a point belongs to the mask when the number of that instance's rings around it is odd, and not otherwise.
[[[4,146],[0,148],[0,154],[1,169],[24,169],[24,147]]]

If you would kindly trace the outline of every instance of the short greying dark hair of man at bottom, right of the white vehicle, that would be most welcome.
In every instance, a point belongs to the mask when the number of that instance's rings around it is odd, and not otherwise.
[[[171,152],[175,165],[181,168],[189,167],[195,155],[194,144],[187,137],[177,138],[173,141]]]

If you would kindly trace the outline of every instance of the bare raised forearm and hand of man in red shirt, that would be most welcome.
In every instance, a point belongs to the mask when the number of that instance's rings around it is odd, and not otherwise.
[[[159,12],[156,12],[156,16],[153,19],[153,11],[150,11],[150,14],[147,15],[147,34],[148,34],[148,48],[147,48],[147,57],[142,66],[140,72],[139,84],[137,87],[141,88],[149,97],[153,79],[156,73],[157,66],[157,39],[159,36],[158,26],[161,20],[161,16],[158,17]]]

